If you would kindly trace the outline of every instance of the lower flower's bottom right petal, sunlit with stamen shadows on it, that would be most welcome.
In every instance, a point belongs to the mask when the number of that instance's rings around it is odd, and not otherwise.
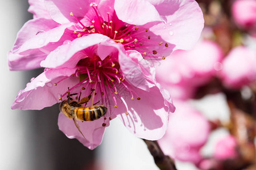
[[[164,98],[158,87],[143,91],[134,90],[141,100],[126,99],[129,108],[126,113],[117,114],[126,128],[139,138],[157,140],[163,137],[168,124],[168,107],[164,105]],[[127,97],[126,97],[127,98]],[[123,103],[118,104],[117,113],[125,111]]]

